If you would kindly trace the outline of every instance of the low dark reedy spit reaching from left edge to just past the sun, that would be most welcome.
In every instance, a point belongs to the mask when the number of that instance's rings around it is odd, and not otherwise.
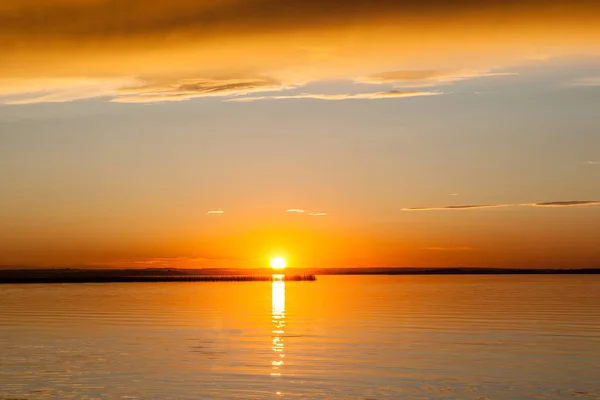
[[[274,278],[268,275],[240,275],[240,276],[82,276],[82,275],[48,275],[48,276],[13,276],[3,277],[2,283],[132,283],[132,282],[271,282],[284,281],[316,281],[315,275],[286,275],[283,278]]]

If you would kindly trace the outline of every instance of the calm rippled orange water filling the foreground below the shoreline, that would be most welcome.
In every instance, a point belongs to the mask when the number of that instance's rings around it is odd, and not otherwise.
[[[0,285],[0,399],[600,399],[600,276]]]

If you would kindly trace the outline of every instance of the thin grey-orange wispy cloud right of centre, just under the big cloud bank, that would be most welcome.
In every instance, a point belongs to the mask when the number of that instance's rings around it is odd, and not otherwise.
[[[428,87],[448,85],[467,79],[483,78],[490,76],[516,75],[512,72],[484,72],[484,71],[443,71],[443,70],[402,70],[382,72],[375,75],[358,78],[357,83],[393,84],[402,87]]]

